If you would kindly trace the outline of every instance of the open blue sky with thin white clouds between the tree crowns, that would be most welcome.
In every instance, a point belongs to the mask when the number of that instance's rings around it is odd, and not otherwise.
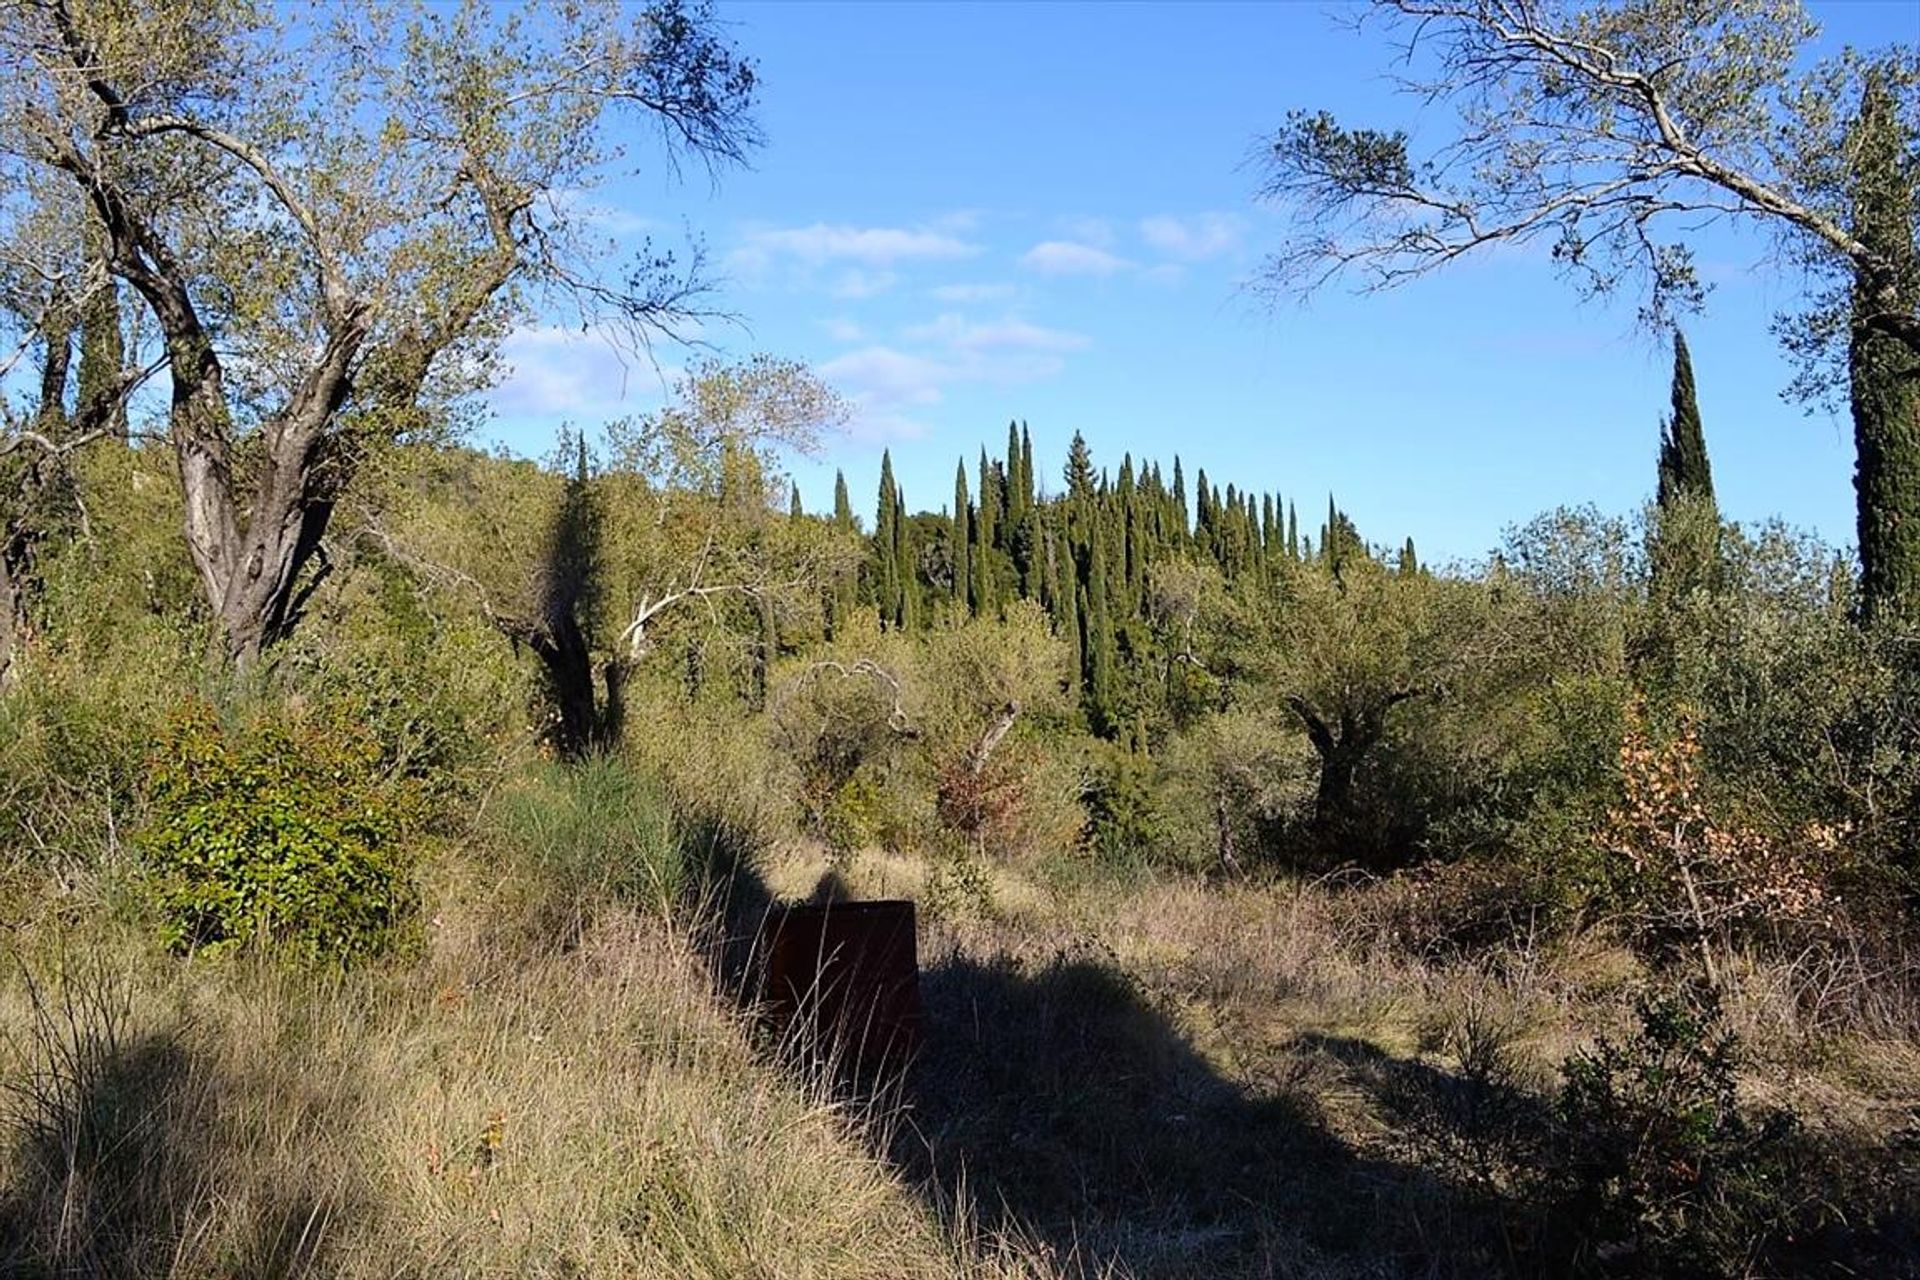
[[[1811,6],[1822,46],[1920,38],[1910,0]],[[1384,81],[1375,31],[1321,4],[720,4],[758,59],[768,146],[708,184],[659,165],[593,194],[609,230],[703,236],[732,355],[804,359],[854,401],[795,464],[810,509],[845,468],[862,514],[879,453],[916,509],[1010,418],[1058,486],[1073,432],[1277,489],[1332,491],[1361,532],[1478,557],[1565,505],[1653,487],[1670,353],[1634,307],[1582,305],[1540,255],[1503,253],[1392,294],[1269,307],[1244,284],[1279,238],[1246,159],[1290,107],[1436,136]],[[651,159],[651,157],[649,157]],[[1853,541],[1851,428],[1780,399],[1768,319],[1795,301],[1761,238],[1716,238],[1688,324],[1732,518]],[[543,453],[555,426],[645,411],[660,372],[597,338],[516,334],[492,434]]]

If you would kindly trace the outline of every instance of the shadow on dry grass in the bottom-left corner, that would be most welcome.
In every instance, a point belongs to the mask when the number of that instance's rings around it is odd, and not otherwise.
[[[119,1027],[75,1017],[42,1017],[36,1031],[38,1065],[0,1092],[0,1132],[12,1140],[0,1167],[0,1274],[324,1272],[351,1205],[311,1171],[250,1165],[234,1146],[248,1126],[232,1125],[255,1102],[232,1092],[244,1082],[171,1032],[123,1038]],[[301,1111],[324,1107],[311,1098]]]

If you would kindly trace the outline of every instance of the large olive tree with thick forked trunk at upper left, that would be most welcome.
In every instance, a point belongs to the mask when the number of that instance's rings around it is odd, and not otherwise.
[[[67,182],[152,319],[236,662],[298,624],[369,449],[486,386],[515,324],[564,307],[641,344],[689,313],[697,263],[609,269],[588,194],[636,125],[741,159],[753,88],[684,0],[0,6],[0,211]]]

